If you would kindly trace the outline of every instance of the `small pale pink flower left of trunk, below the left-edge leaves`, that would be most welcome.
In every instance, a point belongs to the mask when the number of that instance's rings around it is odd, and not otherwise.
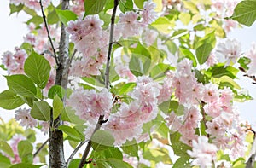
[[[33,119],[30,115],[30,110],[23,108],[15,111],[15,119],[20,120],[21,126],[26,126],[26,128],[33,128],[38,125],[36,119]]]

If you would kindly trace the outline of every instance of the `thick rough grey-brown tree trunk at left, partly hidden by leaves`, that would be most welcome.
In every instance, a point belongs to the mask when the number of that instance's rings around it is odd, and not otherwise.
[[[68,0],[62,0],[62,10],[68,9]],[[68,34],[65,31],[65,26],[61,24],[61,40],[59,47],[59,64],[56,69],[55,84],[61,85],[65,90],[67,89],[67,61],[68,61]],[[65,101],[65,99],[64,99]],[[49,167],[51,168],[67,168],[64,158],[63,148],[63,133],[58,129],[62,125],[61,116],[53,119],[53,113],[50,116],[49,130]]]

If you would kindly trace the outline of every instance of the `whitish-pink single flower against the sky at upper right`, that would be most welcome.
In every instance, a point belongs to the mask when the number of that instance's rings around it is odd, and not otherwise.
[[[225,66],[230,65],[230,62],[236,63],[236,59],[241,55],[241,43],[236,39],[225,39],[224,42],[218,43],[216,55],[226,61]]]

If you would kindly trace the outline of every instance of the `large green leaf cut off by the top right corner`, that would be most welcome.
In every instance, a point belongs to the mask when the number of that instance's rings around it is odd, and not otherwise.
[[[230,19],[236,20],[246,26],[252,26],[256,20],[256,1],[247,0],[238,3]]]

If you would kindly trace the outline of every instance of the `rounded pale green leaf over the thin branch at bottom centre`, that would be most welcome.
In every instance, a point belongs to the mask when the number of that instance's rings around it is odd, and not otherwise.
[[[107,130],[96,130],[91,137],[91,146],[96,151],[112,147],[113,142],[114,138]]]

